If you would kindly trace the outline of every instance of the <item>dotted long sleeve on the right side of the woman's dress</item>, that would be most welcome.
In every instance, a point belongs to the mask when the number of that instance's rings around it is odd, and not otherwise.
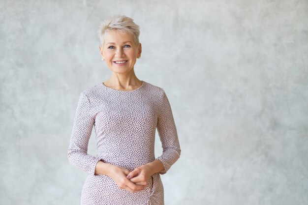
[[[169,100],[164,90],[160,101],[157,131],[162,144],[163,152],[161,156],[156,159],[160,160],[164,165],[165,169],[159,173],[163,175],[179,159],[181,154],[177,128],[174,123]]]

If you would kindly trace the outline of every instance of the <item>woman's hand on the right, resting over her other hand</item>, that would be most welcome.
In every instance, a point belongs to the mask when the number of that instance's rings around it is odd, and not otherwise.
[[[148,181],[152,176],[151,168],[148,165],[142,165],[137,167],[133,171],[131,171],[126,178],[129,178],[131,182],[135,183],[136,185],[148,185]]]

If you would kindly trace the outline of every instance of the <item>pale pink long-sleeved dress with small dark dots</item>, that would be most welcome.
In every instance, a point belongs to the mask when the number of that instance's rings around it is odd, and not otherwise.
[[[96,157],[87,153],[93,126]],[[156,128],[163,148],[157,158]],[[81,92],[67,152],[70,164],[89,173],[81,205],[164,205],[160,175],[180,154],[177,129],[163,88],[142,81],[142,86],[134,90],[117,90],[101,83]],[[164,170],[154,174],[136,193],[120,189],[109,176],[94,174],[99,160],[132,171],[155,159],[163,163]]]

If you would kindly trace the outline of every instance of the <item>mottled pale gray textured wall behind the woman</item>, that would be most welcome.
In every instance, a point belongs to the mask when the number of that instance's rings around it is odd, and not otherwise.
[[[80,203],[66,153],[80,92],[111,74],[96,30],[114,14],[173,108],[166,205],[308,204],[307,0],[0,0],[1,205]]]

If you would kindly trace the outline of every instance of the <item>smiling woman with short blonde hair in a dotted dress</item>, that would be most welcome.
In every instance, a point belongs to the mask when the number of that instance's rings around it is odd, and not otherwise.
[[[141,56],[139,26],[126,16],[106,20],[98,30],[102,60],[111,77],[81,92],[67,158],[89,173],[82,205],[163,205],[160,175],[181,154],[171,107],[162,88],[134,73]],[[96,157],[87,154],[94,125]],[[163,147],[154,156],[155,129]]]

